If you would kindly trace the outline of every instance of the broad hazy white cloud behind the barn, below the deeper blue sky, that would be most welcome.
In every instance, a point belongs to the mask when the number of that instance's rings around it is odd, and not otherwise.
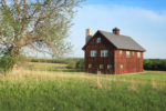
[[[132,37],[147,52],[145,58],[166,58],[166,13],[124,6],[84,6],[79,10],[71,30],[70,41],[74,44],[74,57],[83,57],[85,29],[112,31]]]

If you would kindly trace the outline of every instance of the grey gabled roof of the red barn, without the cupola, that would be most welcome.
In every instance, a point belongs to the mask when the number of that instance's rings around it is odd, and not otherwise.
[[[104,36],[117,49],[145,51],[145,49],[142,46],[139,46],[136,41],[134,41],[131,37],[116,36],[114,33],[102,31],[102,30],[98,30],[97,32]]]

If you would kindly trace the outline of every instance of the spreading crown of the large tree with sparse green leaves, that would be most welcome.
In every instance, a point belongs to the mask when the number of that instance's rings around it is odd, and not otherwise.
[[[83,0],[0,0],[0,54],[17,59],[24,47],[60,57],[75,7]],[[46,49],[46,51],[44,50]]]

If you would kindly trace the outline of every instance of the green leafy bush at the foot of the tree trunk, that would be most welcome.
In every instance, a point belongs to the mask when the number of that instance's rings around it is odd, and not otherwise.
[[[13,68],[13,64],[15,63],[15,59],[12,57],[3,57],[0,59],[0,69],[7,73]]]

